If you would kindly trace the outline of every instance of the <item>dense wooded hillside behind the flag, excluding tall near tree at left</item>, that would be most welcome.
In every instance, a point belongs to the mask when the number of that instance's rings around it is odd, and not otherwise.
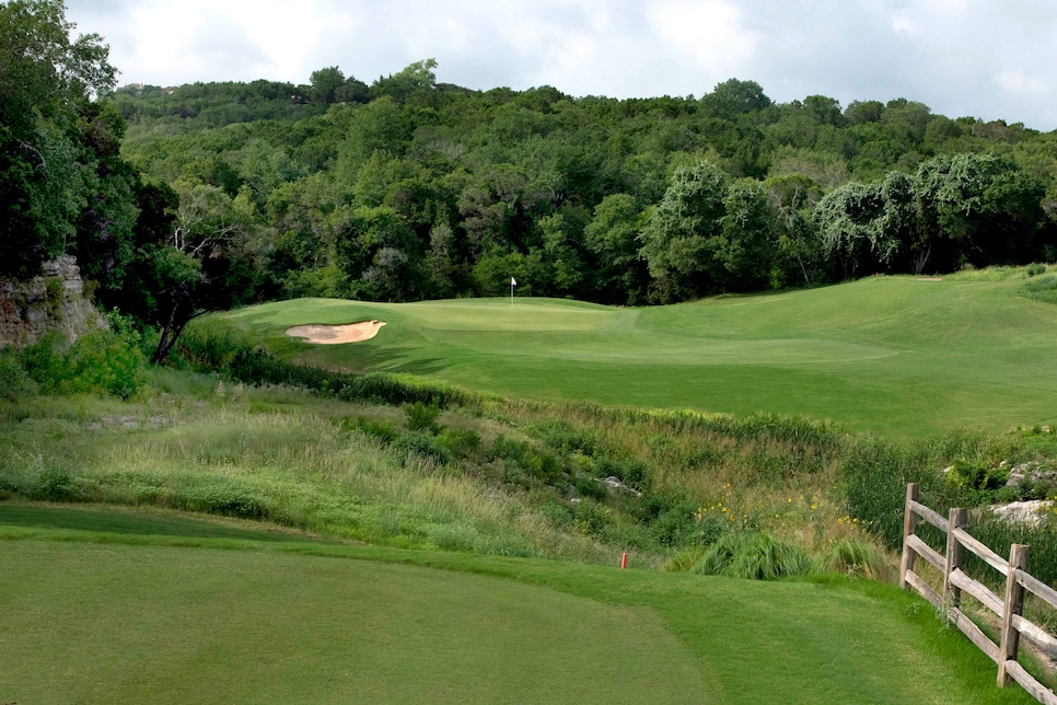
[[[641,304],[1057,258],[1053,134],[906,100],[776,104],[736,79],[618,101],[434,68],[125,88],[123,154],[176,189],[185,230],[239,232],[259,297],[498,296],[514,277]]]

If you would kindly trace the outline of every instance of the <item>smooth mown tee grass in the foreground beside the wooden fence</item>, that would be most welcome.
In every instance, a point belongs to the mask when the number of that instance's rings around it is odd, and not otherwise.
[[[169,519],[170,535],[78,509],[63,529],[0,524],[0,701],[1032,702],[920,600],[869,581],[212,539]]]

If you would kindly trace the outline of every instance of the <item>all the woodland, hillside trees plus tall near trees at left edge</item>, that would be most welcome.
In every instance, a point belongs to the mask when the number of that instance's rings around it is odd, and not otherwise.
[[[471,91],[425,60],[114,90],[58,0],[0,5],[0,275],[77,254],[162,331],[269,298],[604,303],[1057,259],[1057,134],[906,100]]]

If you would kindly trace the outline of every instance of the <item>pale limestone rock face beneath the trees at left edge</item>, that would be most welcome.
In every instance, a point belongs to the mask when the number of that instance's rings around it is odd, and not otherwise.
[[[28,281],[0,279],[0,346],[32,345],[53,331],[70,340],[106,327],[106,320],[84,298],[77,261],[62,255]]]

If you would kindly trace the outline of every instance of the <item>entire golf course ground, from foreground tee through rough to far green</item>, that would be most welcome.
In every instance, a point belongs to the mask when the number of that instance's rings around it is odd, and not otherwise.
[[[1049,438],[1027,284],[208,316],[186,359],[323,377],[0,404],[0,703],[1033,702],[883,581],[905,478]],[[791,578],[701,568],[759,532]]]

